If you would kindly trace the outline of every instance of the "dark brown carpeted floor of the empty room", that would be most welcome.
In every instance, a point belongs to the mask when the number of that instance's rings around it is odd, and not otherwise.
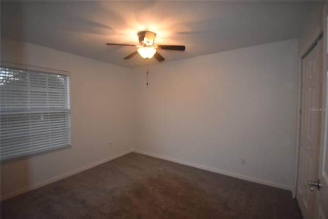
[[[5,200],[1,218],[301,218],[290,191],[135,153]]]

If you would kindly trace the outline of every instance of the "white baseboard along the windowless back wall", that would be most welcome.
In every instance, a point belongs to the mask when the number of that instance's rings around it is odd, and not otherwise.
[[[195,164],[195,163],[191,163],[191,162],[187,162],[187,161],[182,161],[182,160],[178,160],[178,159],[174,159],[174,158],[170,158],[167,156],[162,156],[162,155],[158,155],[152,152],[146,152],[143,150],[133,150],[134,152],[141,154],[141,155],[147,155],[150,157],[154,157],[154,158],[159,158],[159,159],[163,159],[163,160],[167,160],[167,161],[172,161],[175,163],[179,163],[179,164],[183,164],[183,165],[187,165],[187,166],[191,166],[191,167],[196,167],[199,169],[203,169],[203,170],[207,170],[207,171],[211,171],[211,172],[215,172],[215,173],[219,173],[219,174],[223,174],[229,177],[234,177],[234,178],[238,178],[241,180],[247,180],[250,182],[254,182],[254,183],[259,183],[259,184],[263,184],[263,185],[267,185],[267,186],[272,186],[272,187],[276,187],[276,188],[281,188],[281,189],[285,189],[285,190],[291,190],[291,186],[289,185],[283,185],[280,183],[275,183],[275,182],[271,182],[271,181],[267,181],[267,180],[261,180],[261,179],[257,179],[257,178],[253,178],[253,177],[248,177],[248,176],[244,176],[242,174],[239,173],[234,173],[234,172],[230,172],[227,170],[222,170],[222,169],[217,169],[214,167],[208,167],[208,166],[203,166],[203,165],[199,165],[199,164]]]

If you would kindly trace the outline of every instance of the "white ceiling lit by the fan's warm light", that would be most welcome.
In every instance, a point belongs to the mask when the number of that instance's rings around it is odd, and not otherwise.
[[[159,53],[165,62],[296,38],[314,1],[1,1],[1,35],[81,56],[139,67],[157,63],[133,47],[136,33],[157,33],[155,43],[186,45]]]

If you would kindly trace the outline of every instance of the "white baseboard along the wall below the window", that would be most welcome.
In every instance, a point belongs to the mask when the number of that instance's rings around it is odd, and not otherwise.
[[[22,189],[18,189],[18,190],[16,190],[16,191],[11,192],[11,193],[8,193],[8,194],[1,194],[1,201],[6,200],[6,199],[9,199],[9,198],[12,198],[13,196],[16,196],[16,195],[19,195],[19,194],[22,194],[22,193],[28,192],[28,191],[30,191],[30,190],[33,190],[33,189],[36,189],[36,188],[39,188],[39,187],[45,186],[45,185],[47,185],[47,184],[50,184],[50,183],[56,182],[56,181],[58,181],[58,180],[62,180],[62,179],[64,179],[64,178],[70,177],[70,176],[72,176],[72,175],[74,175],[74,174],[76,174],[76,173],[82,172],[82,171],[84,171],[84,170],[90,169],[90,168],[92,168],[92,167],[95,167],[95,166],[97,166],[97,165],[100,165],[100,164],[106,163],[106,162],[108,162],[108,161],[114,160],[114,159],[116,159],[116,158],[119,158],[119,157],[121,157],[121,156],[124,156],[124,155],[126,155],[126,154],[129,154],[129,153],[131,153],[131,152],[133,152],[132,149],[130,149],[130,150],[126,150],[126,151],[121,152],[121,153],[119,153],[119,154],[117,154],[117,155],[114,155],[114,156],[111,156],[111,157],[105,158],[105,159],[100,160],[100,161],[96,161],[96,162],[91,163],[91,164],[88,164],[88,165],[86,165],[86,166],[83,166],[83,167],[80,167],[80,168],[74,169],[74,170],[72,170],[72,171],[70,171],[70,172],[67,172],[67,173],[61,174],[61,175],[59,175],[59,176],[53,177],[53,178],[51,178],[51,179],[48,179],[48,180],[45,180],[45,181],[42,181],[42,182],[38,182],[38,183],[32,184],[32,185],[30,185],[30,186],[28,186],[28,187],[25,187],[25,188],[22,188]]]

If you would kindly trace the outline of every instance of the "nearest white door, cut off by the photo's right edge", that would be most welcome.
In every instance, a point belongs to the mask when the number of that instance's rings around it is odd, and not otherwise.
[[[328,3],[323,9],[323,108],[318,190],[315,218],[328,219]]]

